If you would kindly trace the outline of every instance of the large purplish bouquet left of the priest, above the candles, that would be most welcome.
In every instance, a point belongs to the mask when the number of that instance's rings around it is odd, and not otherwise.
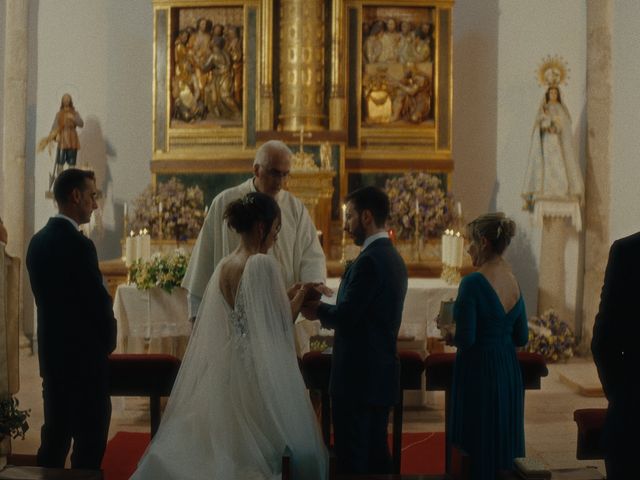
[[[204,195],[200,187],[185,187],[176,177],[149,185],[134,200],[130,228],[149,230],[152,238],[186,240],[196,238],[204,222]]]

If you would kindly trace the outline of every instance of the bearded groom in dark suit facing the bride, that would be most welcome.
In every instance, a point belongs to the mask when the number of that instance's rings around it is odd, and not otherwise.
[[[387,424],[398,401],[407,269],[385,230],[388,216],[389,198],[376,187],[347,196],[344,229],[361,253],[344,274],[335,306],[308,302],[302,310],[335,329],[330,393],[341,473],[391,472]]]

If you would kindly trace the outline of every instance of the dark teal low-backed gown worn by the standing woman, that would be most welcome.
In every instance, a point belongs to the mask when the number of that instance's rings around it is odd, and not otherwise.
[[[516,346],[528,340],[522,296],[505,312],[481,273],[460,283],[450,441],[471,457],[472,479],[496,478],[524,456],[524,390]]]

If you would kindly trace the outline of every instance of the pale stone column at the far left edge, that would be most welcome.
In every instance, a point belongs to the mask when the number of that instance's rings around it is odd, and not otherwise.
[[[7,250],[24,258],[25,146],[27,120],[27,0],[6,0],[2,204],[9,232]]]

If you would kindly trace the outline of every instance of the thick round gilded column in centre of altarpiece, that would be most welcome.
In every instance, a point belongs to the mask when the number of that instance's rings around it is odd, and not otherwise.
[[[280,3],[279,127],[324,129],[324,1]]]

